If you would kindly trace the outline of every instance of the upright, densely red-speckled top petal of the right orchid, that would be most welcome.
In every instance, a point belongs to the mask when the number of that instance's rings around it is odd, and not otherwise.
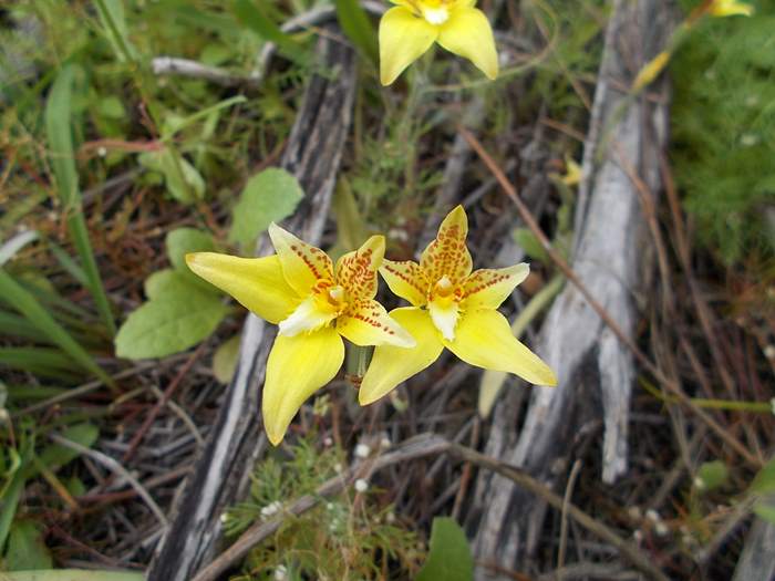
[[[458,284],[471,274],[472,261],[465,246],[466,236],[468,218],[463,206],[457,206],[444,218],[435,240],[420,258],[420,267],[431,283],[446,276],[453,284]]]

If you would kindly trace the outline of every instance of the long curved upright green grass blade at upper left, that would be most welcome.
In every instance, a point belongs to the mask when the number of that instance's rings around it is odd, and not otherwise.
[[[87,288],[96,303],[100,317],[111,334],[114,335],[116,331],[115,322],[113,321],[107,294],[102,286],[100,271],[92,251],[92,243],[89,239],[89,229],[83,217],[78,172],[75,169],[73,136],[70,126],[75,72],[75,65],[68,64],[56,75],[45,104],[45,128],[51,152],[51,165],[56,176],[63,210],[68,217],[68,229],[75,245],[75,250],[81,258],[83,271],[89,280]]]

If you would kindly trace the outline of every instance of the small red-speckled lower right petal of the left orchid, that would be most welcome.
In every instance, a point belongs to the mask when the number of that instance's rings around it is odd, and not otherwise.
[[[416,342],[379,302],[361,301],[337,319],[337,331],[356,345],[413,347]]]

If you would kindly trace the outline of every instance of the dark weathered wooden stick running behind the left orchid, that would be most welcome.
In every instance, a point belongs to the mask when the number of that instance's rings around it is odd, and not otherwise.
[[[355,89],[354,55],[348,46],[321,38],[317,52],[330,74],[312,76],[280,164],[307,193],[285,227],[312,243],[319,243],[326,224]],[[257,255],[270,251],[265,236]],[[248,315],[237,373],[151,566],[149,581],[187,581],[213,559],[220,517],[244,495],[252,465],[266,448],[259,402],[273,340],[273,330]]]

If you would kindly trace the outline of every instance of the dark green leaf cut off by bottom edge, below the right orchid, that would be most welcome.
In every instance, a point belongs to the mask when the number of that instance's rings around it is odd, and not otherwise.
[[[415,581],[471,581],[474,558],[463,529],[454,519],[436,517],[431,530],[431,551]]]

